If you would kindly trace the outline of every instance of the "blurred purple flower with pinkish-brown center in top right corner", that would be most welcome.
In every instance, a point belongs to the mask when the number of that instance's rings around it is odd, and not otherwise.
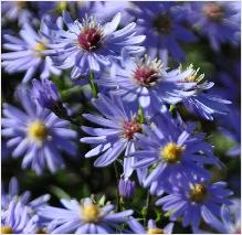
[[[220,50],[223,42],[238,45],[240,42],[240,8],[232,2],[192,2],[189,20],[198,31],[209,38],[214,51]],[[239,4],[238,4],[239,6]]]

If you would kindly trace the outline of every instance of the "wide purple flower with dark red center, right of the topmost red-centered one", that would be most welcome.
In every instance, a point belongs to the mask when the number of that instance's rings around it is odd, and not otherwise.
[[[167,72],[160,60],[151,60],[145,55],[141,58],[126,60],[123,66],[113,66],[112,73],[104,74],[96,83],[113,88],[127,102],[139,102],[144,108],[161,110],[165,103],[177,104],[181,97],[190,96],[193,92],[182,92],[191,87],[190,84],[177,83],[187,77],[187,71]]]

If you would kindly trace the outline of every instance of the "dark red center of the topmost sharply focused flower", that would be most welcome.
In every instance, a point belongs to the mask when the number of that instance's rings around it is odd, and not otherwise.
[[[102,33],[95,28],[86,28],[81,32],[77,40],[82,49],[93,51],[101,45]]]

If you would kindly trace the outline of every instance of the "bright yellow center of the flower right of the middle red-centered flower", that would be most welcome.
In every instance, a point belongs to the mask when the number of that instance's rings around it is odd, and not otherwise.
[[[161,150],[160,157],[169,163],[176,163],[180,160],[183,148],[173,142],[168,142]]]

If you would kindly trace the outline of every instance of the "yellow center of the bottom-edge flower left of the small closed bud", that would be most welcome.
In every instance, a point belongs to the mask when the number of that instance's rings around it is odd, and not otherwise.
[[[99,220],[99,207],[95,204],[85,205],[81,209],[82,220],[86,223],[96,223]]]

